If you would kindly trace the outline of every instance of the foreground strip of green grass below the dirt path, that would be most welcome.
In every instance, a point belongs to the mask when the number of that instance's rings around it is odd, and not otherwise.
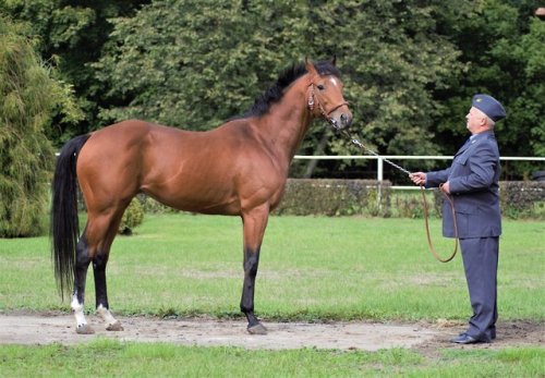
[[[98,339],[64,346],[0,347],[2,377],[540,377],[545,350],[457,350],[428,361],[392,349],[374,353],[302,349],[246,351]]]

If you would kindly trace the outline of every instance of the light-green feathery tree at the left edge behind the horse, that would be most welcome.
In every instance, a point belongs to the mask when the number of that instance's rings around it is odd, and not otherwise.
[[[53,110],[76,119],[70,86],[56,82],[20,25],[0,17],[0,236],[40,234],[48,204]]]

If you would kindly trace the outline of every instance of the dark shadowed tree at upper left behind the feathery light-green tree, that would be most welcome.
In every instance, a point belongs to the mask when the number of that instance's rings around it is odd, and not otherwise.
[[[38,36],[35,48],[44,61],[52,62],[63,82],[73,86],[77,107],[85,117],[71,122],[62,114],[55,126],[46,127],[56,147],[71,137],[104,126],[97,119],[105,106],[102,94],[108,83],[96,80],[90,66],[101,53],[112,25],[110,17],[128,16],[150,0],[10,0],[0,1],[0,13],[24,24],[28,35]]]

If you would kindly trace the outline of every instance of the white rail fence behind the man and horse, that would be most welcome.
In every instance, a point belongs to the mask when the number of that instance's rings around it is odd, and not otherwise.
[[[385,159],[387,160],[452,160],[452,156],[435,156],[435,155],[421,155],[421,156],[409,156],[409,155],[382,155],[382,156],[373,156],[373,155],[337,155],[337,156],[308,156],[308,155],[295,155],[294,159],[300,160],[377,160],[377,181],[384,180],[384,163]],[[544,161],[545,157],[500,157],[500,161]],[[544,163],[545,166],[545,163]],[[544,167],[545,170],[545,167]],[[417,190],[419,187],[415,185],[403,186],[403,185],[393,185],[392,190]]]

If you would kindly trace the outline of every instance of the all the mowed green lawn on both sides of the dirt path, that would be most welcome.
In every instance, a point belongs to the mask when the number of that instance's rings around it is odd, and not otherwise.
[[[432,222],[437,248],[452,241]],[[500,320],[545,318],[545,224],[504,222]],[[238,218],[146,216],[118,236],[108,265],[116,314],[239,317],[242,227]],[[257,277],[256,313],[270,320],[464,321],[471,308],[461,256],[441,264],[422,219],[272,217]],[[65,310],[47,237],[0,240],[0,312]],[[92,268],[87,310],[94,310]],[[0,377],[543,377],[543,345],[445,349],[245,351],[97,340],[77,345],[0,345]]]

